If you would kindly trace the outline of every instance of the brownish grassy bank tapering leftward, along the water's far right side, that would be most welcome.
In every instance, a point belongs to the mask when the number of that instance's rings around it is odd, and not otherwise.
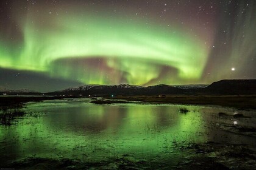
[[[107,97],[111,98],[111,97]],[[144,103],[169,104],[213,104],[236,107],[239,109],[256,109],[256,95],[168,95],[168,96],[116,96],[115,100],[142,101]]]

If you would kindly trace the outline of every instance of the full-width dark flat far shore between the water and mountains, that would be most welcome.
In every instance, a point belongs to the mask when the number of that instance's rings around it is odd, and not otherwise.
[[[129,101],[141,101],[142,103],[157,103],[157,104],[200,104],[200,105],[218,105],[226,107],[235,107],[238,109],[256,109],[256,95],[158,95],[158,96],[138,96],[138,95],[118,95],[116,97],[46,97],[46,96],[9,96],[0,97],[0,107],[19,106],[28,102],[40,102],[44,100],[63,100],[65,98],[88,98],[94,100],[92,103],[109,104],[119,103],[115,100],[122,100],[129,103]],[[106,103],[104,103],[104,99]]]

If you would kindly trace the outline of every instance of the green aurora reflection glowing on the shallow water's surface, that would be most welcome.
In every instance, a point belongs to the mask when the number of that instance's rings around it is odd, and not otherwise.
[[[194,112],[179,114],[179,106],[99,106],[84,101],[30,104],[27,109],[48,114],[24,119],[10,131],[3,131],[0,138],[15,138],[10,146],[17,158],[35,155],[87,162],[127,154],[136,159],[173,151],[177,154],[175,144],[185,146],[207,140],[202,117],[195,117]],[[190,110],[199,108],[188,106]]]

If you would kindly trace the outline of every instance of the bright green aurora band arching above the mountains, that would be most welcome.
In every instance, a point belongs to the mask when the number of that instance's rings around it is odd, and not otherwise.
[[[46,14],[29,12],[20,21],[24,42],[15,50],[1,49],[0,67],[44,72],[86,84],[123,83],[123,79],[143,85],[154,79],[173,83],[168,75],[160,77],[163,67],[177,70],[177,80],[199,80],[207,61],[204,42],[176,25],[158,27],[138,19],[124,21],[90,13],[49,16],[42,24],[40,18],[46,17],[42,15]],[[112,79],[97,64],[93,71],[85,71],[86,66],[56,64],[71,58],[104,60]]]

